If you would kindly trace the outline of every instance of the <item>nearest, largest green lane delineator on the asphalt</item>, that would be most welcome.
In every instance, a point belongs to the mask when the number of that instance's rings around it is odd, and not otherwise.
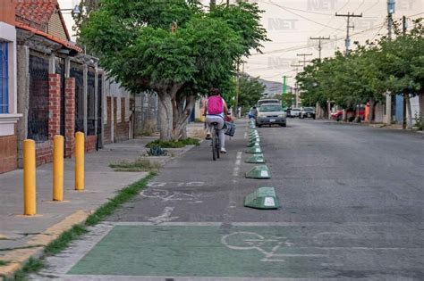
[[[264,186],[244,197],[244,206],[255,209],[278,209],[280,202],[274,187]]]

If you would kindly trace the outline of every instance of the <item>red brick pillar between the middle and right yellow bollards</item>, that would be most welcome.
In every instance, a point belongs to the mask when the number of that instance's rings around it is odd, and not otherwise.
[[[75,145],[75,79],[67,78],[64,89],[65,120],[64,120],[64,139],[66,158],[72,158],[73,146]]]

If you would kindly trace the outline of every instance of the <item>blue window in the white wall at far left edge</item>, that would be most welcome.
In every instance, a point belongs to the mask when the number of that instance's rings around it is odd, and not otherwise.
[[[9,113],[8,43],[0,42],[0,114]]]

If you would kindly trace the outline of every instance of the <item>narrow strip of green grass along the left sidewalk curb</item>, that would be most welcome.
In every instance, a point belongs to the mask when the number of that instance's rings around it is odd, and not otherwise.
[[[140,191],[147,187],[148,181],[155,176],[155,172],[150,172],[146,178],[143,178],[118,191],[118,194],[116,194],[114,198],[104,203],[97,211],[89,215],[84,224],[73,226],[71,229],[65,231],[61,236],[57,237],[55,241],[48,244],[44,254],[49,256],[64,251],[64,249],[66,249],[72,241],[89,232],[87,227],[97,225],[100,221],[111,215],[118,207],[123,205],[123,203],[128,202],[137,194],[140,194]],[[43,269],[44,266],[45,263],[43,259],[30,258],[25,266],[21,270],[17,271],[12,279],[7,279],[7,281],[27,280],[27,276],[29,274],[38,272],[40,269]]]

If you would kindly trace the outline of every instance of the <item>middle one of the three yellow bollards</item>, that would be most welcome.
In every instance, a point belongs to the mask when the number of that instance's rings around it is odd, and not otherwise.
[[[53,200],[64,201],[64,136],[53,138]]]

